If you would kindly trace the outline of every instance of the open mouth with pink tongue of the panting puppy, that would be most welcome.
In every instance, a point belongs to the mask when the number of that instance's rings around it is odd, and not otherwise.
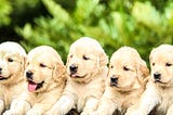
[[[43,84],[44,84],[44,81],[35,82],[35,81],[28,79],[28,90],[29,90],[30,92],[34,92],[34,91],[42,88]]]

